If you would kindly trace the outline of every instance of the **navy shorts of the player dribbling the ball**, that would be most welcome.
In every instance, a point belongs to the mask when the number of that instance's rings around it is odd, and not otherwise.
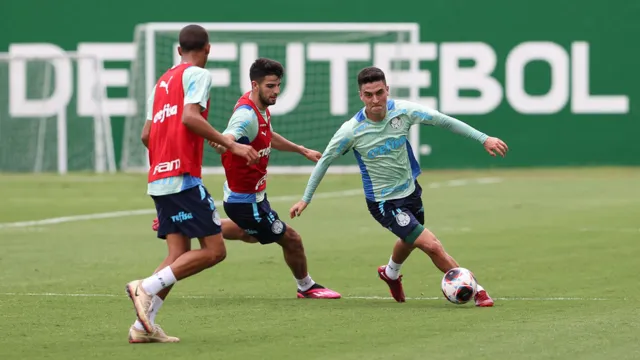
[[[424,225],[422,188],[417,181],[415,185],[415,191],[402,199],[379,202],[367,200],[367,207],[373,218],[405,241],[418,226]],[[415,238],[411,242],[413,240]]]

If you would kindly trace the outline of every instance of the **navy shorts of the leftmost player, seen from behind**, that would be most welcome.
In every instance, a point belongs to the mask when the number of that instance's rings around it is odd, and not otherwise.
[[[183,234],[188,238],[203,238],[222,231],[220,215],[213,199],[203,185],[177,194],[151,196],[158,212],[158,237]]]

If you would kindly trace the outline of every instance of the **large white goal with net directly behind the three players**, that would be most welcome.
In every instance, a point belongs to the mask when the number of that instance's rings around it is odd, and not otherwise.
[[[157,78],[179,62],[178,33],[188,23],[149,23],[135,29],[136,60],[132,63],[129,97],[136,100],[135,115],[125,120],[123,171],[146,171],[146,149],[140,142],[146,99]],[[276,59],[285,66],[282,93],[271,114],[274,130],[308,148],[323,151],[340,125],[361,107],[356,75],[365,66],[383,70],[419,69],[417,60],[401,61],[394,53],[406,52],[402,44],[419,42],[414,23],[200,23],[209,31],[211,53],[211,111],[209,121],[226,127],[238,97],[251,88],[249,67],[258,57]],[[394,87],[394,98],[417,99],[419,88]],[[416,158],[418,128],[410,142]],[[222,173],[220,156],[205,148],[205,173]],[[298,154],[271,152],[271,173],[309,173],[313,164]],[[357,173],[353,156],[337,160],[329,171]]]

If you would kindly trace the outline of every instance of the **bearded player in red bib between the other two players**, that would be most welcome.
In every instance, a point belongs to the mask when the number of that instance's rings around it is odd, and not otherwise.
[[[244,232],[260,244],[277,243],[282,247],[284,260],[298,283],[298,298],[338,299],[339,293],[313,281],[307,270],[300,235],[279,219],[267,199],[267,165],[271,147],[299,153],[314,162],[321,156],[319,152],[294,144],[273,131],[268,108],[276,103],[283,75],[284,68],[279,62],[266,58],[255,60],[249,69],[251,91],[240,97],[223,132],[229,140],[251,145],[260,157],[257,164],[247,165],[236,154],[211,144],[222,153],[227,177],[223,204],[231,221],[224,224],[224,237],[232,240],[233,233]]]

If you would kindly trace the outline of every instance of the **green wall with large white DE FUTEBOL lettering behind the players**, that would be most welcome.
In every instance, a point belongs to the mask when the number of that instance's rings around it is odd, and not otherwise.
[[[373,64],[387,71],[396,98],[458,117],[513,150],[496,162],[475,144],[423,128],[412,143],[429,168],[640,162],[634,2],[328,0],[303,9],[252,1],[243,3],[251,11],[203,2],[192,12],[163,0],[3,2],[0,170],[144,166],[144,99],[176,60],[177,31],[192,22],[211,34],[218,128],[250,86],[251,61],[273,57],[287,69],[278,130],[323,148],[361,107],[355,76]],[[274,166],[302,164],[272,158]]]

